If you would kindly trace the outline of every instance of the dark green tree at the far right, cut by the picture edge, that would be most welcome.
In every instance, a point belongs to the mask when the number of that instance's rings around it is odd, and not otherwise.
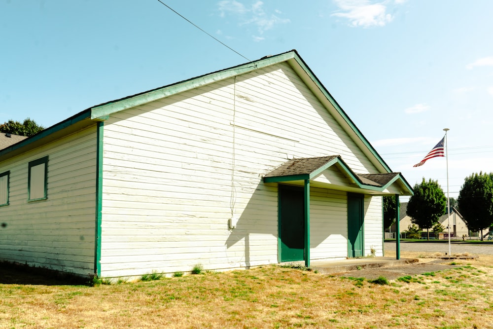
[[[464,179],[458,197],[460,214],[471,231],[481,231],[493,224],[493,173],[472,174]]]

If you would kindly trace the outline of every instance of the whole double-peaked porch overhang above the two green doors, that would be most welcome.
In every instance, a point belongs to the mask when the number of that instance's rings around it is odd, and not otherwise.
[[[356,174],[340,155],[299,158],[284,162],[263,176],[266,184],[286,183],[371,195],[413,195],[401,173]]]

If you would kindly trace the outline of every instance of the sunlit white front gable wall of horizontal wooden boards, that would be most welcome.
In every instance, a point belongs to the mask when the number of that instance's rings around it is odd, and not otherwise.
[[[104,143],[106,277],[276,263],[278,193],[263,174],[333,154],[376,172],[287,64],[112,114]],[[327,229],[313,255],[347,255],[345,193],[312,200],[312,232]]]

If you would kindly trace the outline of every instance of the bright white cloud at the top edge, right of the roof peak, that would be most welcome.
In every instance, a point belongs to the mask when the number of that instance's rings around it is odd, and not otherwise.
[[[353,27],[385,26],[393,16],[387,14],[386,2],[371,3],[370,0],[334,0],[341,12],[331,16],[347,18]],[[398,3],[398,2],[396,2]]]

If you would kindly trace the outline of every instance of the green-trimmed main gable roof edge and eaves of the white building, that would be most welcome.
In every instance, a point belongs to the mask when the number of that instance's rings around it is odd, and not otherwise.
[[[306,65],[303,59],[299,56],[296,50],[291,50],[274,56],[263,57],[259,60],[248,62],[221,71],[204,74],[188,80],[176,82],[163,87],[155,88],[135,95],[127,96],[114,101],[106,102],[84,111],[81,111],[72,117],[45,129],[44,131],[32,136],[14,146],[9,146],[0,150],[0,161],[5,156],[12,156],[23,152],[26,149],[34,148],[45,143],[45,138],[59,138],[67,135],[70,132],[81,129],[82,127],[95,124],[95,121],[104,121],[109,118],[109,115],[121,110],[126,110],[148,102],[156,101],[176,93],[204,86],[240,74],[252,72],[272,65],[287,63],[294,72],[296,72],[308,88],[314,93],[317,99],[323,104],[325,109],[334,117],[337,123],[351,137],[353,142],[358,146],[369,161],[377,168],[380,173],[390,173],[391,170],[383,158],[371,146],[368,140],[359,131],[356,125],[352,122],[346,112],[339,106],[335,99],[330,95],[327,89],[318,80],[317,76]],[[342,159],[341,159],[342,160]],[[400,175],[400,174],[399,174]],[[370,177],[360,177],[359,181],[368,179],[375,182]],[[382,180],[382,181],[381,181]],[[383,178],[379,178],[380,182],[384,182]],[[367,183],[371,183],[365,181]],[[378,185],[382,183],[375,182]],[[375,185],[375,186],[378,186]],[[412,189],[411,193],[412,193]]]

